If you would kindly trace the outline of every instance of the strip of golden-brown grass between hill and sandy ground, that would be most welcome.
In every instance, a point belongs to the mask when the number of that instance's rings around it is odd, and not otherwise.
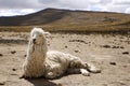
[[[41,27],[46,31],[72,31],[72,32],[110,32],[110,31],[130,31],[128,26],[1,26],[0,31],[29,32],[34,27]]]

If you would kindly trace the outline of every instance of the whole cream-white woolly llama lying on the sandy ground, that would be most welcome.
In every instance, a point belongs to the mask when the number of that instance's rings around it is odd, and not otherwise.
[[[42,28],[31,30],[27,56],[23,66],[24,77],[56,78],[69,69],[79,69],[80,73],[86,76],[90,75],[90,72],[101,72],[100,69],[83,62],[79,57],[62,52],[48,51],[47,34],[49,32],[43,31]]]

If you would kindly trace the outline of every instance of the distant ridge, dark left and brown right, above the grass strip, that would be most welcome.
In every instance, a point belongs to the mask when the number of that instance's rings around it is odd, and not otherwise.
[[[28,15],[0,17],[0,26],[31,26],[53,23],[63,25],[66,23],[66,25],[95,25],[121,23],[128,18],[130,22],[130,15],[120,13],[70,11],[49,8]]]

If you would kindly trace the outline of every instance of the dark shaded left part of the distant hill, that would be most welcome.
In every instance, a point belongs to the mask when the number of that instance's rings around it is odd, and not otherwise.
[[[44,25],[66,16],[68,10],[46,9],[37,13],[20,16],[0,17],[0,26]]]

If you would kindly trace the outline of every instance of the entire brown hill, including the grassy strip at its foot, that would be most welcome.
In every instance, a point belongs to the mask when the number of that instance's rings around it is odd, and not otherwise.
[[[23,16],[0,17],[0,28],[30,28],[35,26],[44,27],[48,30],[126,31],[130,30],[130,15],[46,9]]]

